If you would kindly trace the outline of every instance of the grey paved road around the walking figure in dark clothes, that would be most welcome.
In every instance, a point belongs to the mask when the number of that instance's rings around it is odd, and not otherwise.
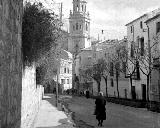
[[[97,128],[94,100],[73,97],[67,100],[69,109],[74,112],[76,124],[81,128]],[[145,109],[107,103],[107,120],[104,128],[160,128],[160,114]]]

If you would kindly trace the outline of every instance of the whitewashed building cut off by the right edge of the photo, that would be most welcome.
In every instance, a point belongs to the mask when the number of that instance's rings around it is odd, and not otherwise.
[[[150,100],[160,101],[160,13],[146,21],[151,51]]]

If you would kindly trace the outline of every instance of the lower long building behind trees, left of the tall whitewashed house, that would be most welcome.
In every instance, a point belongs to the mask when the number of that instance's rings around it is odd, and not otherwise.
[[[111,58],[114,60],[114,56],[116,54],[116,50],[121,49],[122,47],[126,47],[126,39],[123,40],[105,40],[102,42],[99,42],[93,46],[93,62],[96,63],[99,59],[104,59],[106,63],[108,64],[108,69],[110,71],[106,72],[107,76],[107,87],[105,79],[101,78],[101,84],[100,88],[101,91],[106,95],[106,91],[108,93],[109,97],[118,97],[119,91],[119,97],[121,98],[130,98],[130,89],[129,89],[129,80],[128,78],[125,78],[125,73],[119,72],[119,78],[118,78],[118,86],[116,81],[116,74],[115,74],[115,63],[112,63],[113,66],[111,66],[110,60]],[[123,63],[120,62],[120,68],[123,70],[126,67],[124,67]],[[113,71],[113,73],[111,73]],[[123,70],[124,71],[124,70]],[[107,90],[106,90],[107,88]],[[93,94],[97,94],[97,83],[93,80]]]

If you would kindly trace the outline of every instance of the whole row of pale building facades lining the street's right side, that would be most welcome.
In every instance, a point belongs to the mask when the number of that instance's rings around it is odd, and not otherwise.
[[[77,12],[73,14],[77,15]],[[77,19],[74,19],[74,21],[77,21]],[[70,23],[70,27],[71,26],[72,23]],[[159,101],[160,47],[158,33],[160,31],[160,10],[157,9],[146,13],[128,23],[126,27],[127,37],[122,40],[98,41],[96,43],[91,43],[88,47],[79,49],[73,64],[73,74],[75,76],[73,77],[73,88],[79,91],[89,89],[92,94],[96,95],[96,82],[93,79],[86,80],[83,75],[83,70],[93,66],[93,64],[102,58],[109,63],[110,68],[114,68],[116,63],[114,63],[112,59],[117,52],[121,51],[123,58],[119,61],[120,73],[118,85],[116,75],[113,75],[110,72],[109,74],[106,74],[108,76],[108,96],[117,97],[119,93],[119,97],[121,98]],[[72,31],[71,27],[71,39],[73,39],[73,34],[76,33]],[[76,35],[74,35],[74,39],[75,38]],[[70,43],[70,45],[72,45],[72,50],[74,50],[74,44],[75,43]],[[112,60],[113,66],[111,66],[112,63],[109,62],[108,58]],[[117,86],[119,92],[117,92]],[[106,83],[104,78],[101,79],[101,91],[106,94]]]

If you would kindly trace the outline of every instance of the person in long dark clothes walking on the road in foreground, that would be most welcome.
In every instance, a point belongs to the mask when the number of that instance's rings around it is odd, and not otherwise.
[[[95,115],[96,119],[98,120],[98,126],[103,125],[103,120],[106,120],[106,100],[103,97],[103,93],[100,92],[98,98],[95,101],[96,108],[95,108]]]

